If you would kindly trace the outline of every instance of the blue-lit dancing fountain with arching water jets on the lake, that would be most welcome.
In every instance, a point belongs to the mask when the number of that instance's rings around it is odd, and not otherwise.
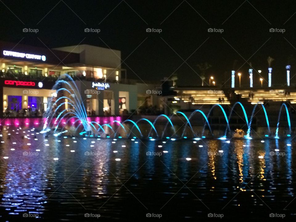
[[[206,115],[202,110],[196,109],[194,110],[189,117],[186,116],[185,113],[183,112],[176,112],[172,114],[170,117],[161,114],[156,119],[151,122],[150,120],[146,118],[141,118],[137,121],[133,121],[130,119],[127,119],[125,121],[118,121],[118,120],[112,120],[109,123],[105,124],[100,124],[97,121],[90,121],[90,118],[87,117],[86,109],[83,105],[83,101],[81,99],[79,90],[72,79],[71,76],[65,74],[61,76],[57,82],[55,83],[54,90],[56,90],[55,97],[51,97],[49,104],[48,104],[48,109],[46,113],[44,114],[44,125],[43,125],[43,130],[41,133],[47,133],[49,131],[52,131],[54,136],[60,136],[61,134],[71,132],[72,134],[77,134],[77,135],[84,135],[84,136],[95,136],[95,137],[100,137],[101,133],[102,136],[105,138],[122,138],[121,135],[118,136],[118,131],[120,129],[123,130],[123,132],[126,135],[126,138],[130,138],[131,134],[134,134],[134,138],[148,138],[148,139],[154,139],[154,138],[163,138],[165,136],[165,133],[168,130],[168,127],[170,125],[170,128],[172,130],[171,136],[167,136],[166,138],[187,138],[185,135],[186,130],[189,128],[191,130],[191,133],[193,135],[193,138],[199,138],[197,133],[194,131],[191,123],[191,119],[195,116],[195,114],[201,114],[202,118],[204,119],[204,125],[203,129],[201,132],[200,137],[205,138],[205,130],[208,129],[209,135],[211,137],[214,137],[213,132],[212,132],[212,127],[209,123],[209,118],[210,114],[212,113],[212,110],[215,109],[216,107],[220,109],[223,113],[222,118],[225,119],[226,122],[226,127],[224,131],[224,135],[221,135],[218,137],[218,139],[225,140],[227,138],[228,132],[231,132],[229,122],[231,120],[232,114],[234,112],[234,108],[239,105],[239,107],[243,111],[243,118],[245,121],[245,125],[247,126],[247,132],[246,135],[244,136],[247,139],[252,139],[250,137],[251,133],[251,125],[253,118],[255,116],[255,110],[259,106],[263,109],[265,120],[266,120],[266,125],[268,128],[268,134],[265,134],[265,137],[272,137],[271,131],[270,131],[270,126],[269,126],[269,119],[268,115],[265,109],[265,106],[262,103],[257,103],[252,110],[250,119],[248,120],[248,115],[246,113],[245,107],[241,104],[241,102],[236,102],[233,104],[230,114],[227,117],[226,112],[222,105],[220,104],[215,104],[211,107],[209,110],[208,114]],[[58,99],[57,99],[58,98]],[[279,131],[279,123],[280,123],[280,117],[282,113],[282,108],[285,107],[286,110],[286,117],[289,125],[289,134],[287,134],[288,137],[291,136],[291,123],[290,123],[290,115],[289,115],[289,110],[287,108],[286,104],[282,104],[279,110],[278,114],[278,122],[277,122],[277,128],[275,131],[274,138],[279,138],[278,136],[278,131]],[[173,117],[179,117],[180,119],[183,117],[185,119],[184,122],[184,127],[181,135],[177,135],[175,125],[173,124]],[[162,130],[162,133],[158,133],[157,129],[155,128],[155,125],[157,124],[158,120],[162,118],[165,119],[166,124]],[[71,123],[70,127],[69,122]],[[142,133],[142,130],[140,129],[140,123],[146,123],[149,124],[150,129],[148,130],[148,134],[144,135]],[[131,125],[131,126],[130,126]],[[138,132],[138,136],[133,132],[133,130],[136,129]],[[107,132],[108,131],[108,132]],[[109,134],[110,132],[110,134]]]

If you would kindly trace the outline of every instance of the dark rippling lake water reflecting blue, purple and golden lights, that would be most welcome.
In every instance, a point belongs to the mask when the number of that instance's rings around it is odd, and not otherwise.
[[[0,221],[295,218],[292,137],[114,141],[30,129],[2,129]]]

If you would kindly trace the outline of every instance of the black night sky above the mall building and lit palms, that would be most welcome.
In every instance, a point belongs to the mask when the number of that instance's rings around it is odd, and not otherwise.
[[[128,57],[122,64],[128,76],[144,81],[160,80],[176,72],[179,85],[200,85],[196,65],[208,62],[212,68],[207,76],[213,75],[221,83],[229,79],[237,60],[235,69],[242,66],[239,69],[242,84],[248,84],[249,65],[245,60],[252,62],[254,69],[261,69],[267,80],[266,59],[270,55],[275,59],[273,83],[280,84],[286,81],[288,57],[296,58],[295,1],[2,2],[1,40],[17,43],[22,39],[24,44],[44,47],[44,43],[50,48],[77,45],[81,41],[101,47],[108,45],[121,50],[122,60]],[[23,33],[24,27],[38,28],[39,32]],[[101,32],[85,33],[87,27],[99,28]],[[146,28],[161,28],[162,32],[149,33]],[[208,28],[222,28],[224,32],[211,33]],[[270,28],[285,29],[285,33],[272,33]],[[187,64],[183,64],[190,55]],[[292,77],[296,62],[291,65]],[[259,75],[255,73],[254,84],[259,83]],[[291,83],[296,83],[296,76]]]

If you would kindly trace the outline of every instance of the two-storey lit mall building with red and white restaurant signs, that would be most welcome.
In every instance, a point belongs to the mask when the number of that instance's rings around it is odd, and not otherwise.
[[[2,117],[42,116],[57,78],[72,76],[88,115],[127,115],[158,105],[157,84],[127,78],[118,50],[79,45],[55,49],[0,42]],[[140,81],[140,82],[139,82]],[[103,87],[98,87],[103,86]],[[98,90],[98,91],[96,91]]]

